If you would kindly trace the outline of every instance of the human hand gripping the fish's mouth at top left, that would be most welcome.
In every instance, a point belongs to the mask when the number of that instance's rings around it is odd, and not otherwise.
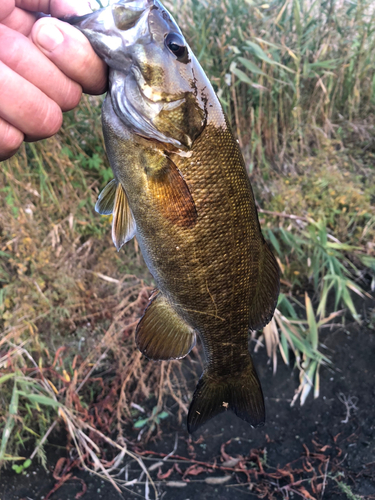
[[[56,134],[82,92],[105,91],[106,65],[80,31],[54,18],[88,12],[85,0],[0,0],[0,161],[24,140]]]

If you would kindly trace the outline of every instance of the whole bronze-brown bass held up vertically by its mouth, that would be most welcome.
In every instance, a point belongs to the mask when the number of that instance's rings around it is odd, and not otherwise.
[[[122,0],[69,22],[109,66],[102,124],[114,179],[95,208],[112,214],[118,250],[136,236],[157,286],[137,347],[181,359],[200,338],[189,433],[227,410],[261,426],[248,336],[271,320],[280,273],[220,101],[160,1]]]

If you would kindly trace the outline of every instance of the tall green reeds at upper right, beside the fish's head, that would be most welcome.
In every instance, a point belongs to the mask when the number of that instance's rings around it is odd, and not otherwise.
[[[370,0],[180,0],[177,17],[248,147],[248,166],[319,148],[374,106]],[[233,20],[236,20],[233,22]]]

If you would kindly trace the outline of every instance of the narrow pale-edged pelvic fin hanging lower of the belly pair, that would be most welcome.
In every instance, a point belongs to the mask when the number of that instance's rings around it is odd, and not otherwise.
[[[135,220],[124,188],[118,184],[113,207],[112,240],[117,250],[135,235]]]

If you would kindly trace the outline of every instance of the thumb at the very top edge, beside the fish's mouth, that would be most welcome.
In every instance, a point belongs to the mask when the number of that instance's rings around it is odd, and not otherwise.
[[[20,9],[44,12],[54,17],[83,16],[91,12],[89,2],[86,0],[16,0],[16,5]]]

